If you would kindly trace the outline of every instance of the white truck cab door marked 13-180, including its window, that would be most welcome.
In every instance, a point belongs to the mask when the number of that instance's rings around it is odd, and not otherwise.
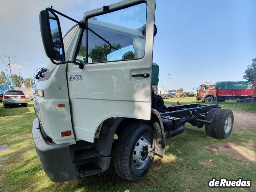
[[[155,0],[126,0],[86,12],[67,65],[76,138],[93,142],[108,118],[150,120]]]

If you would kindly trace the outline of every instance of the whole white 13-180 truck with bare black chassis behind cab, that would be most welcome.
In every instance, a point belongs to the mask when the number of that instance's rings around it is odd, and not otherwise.
[[[76,22],[63,37],[57,14]],[[185,122],[209,125],[210,136],[229,136],[232,121],[229,132],[212,134],[217,104],[166,107],[154,95],[154,16],[155,0],[124,0],[86,12],[81,21],[53,8],[40,12],[51,62],[36,76],[32,134],[50,180],[106,171],[114,151],[117,174],[137,181],[154,154],[164,156],[165,138],[181,134]]]

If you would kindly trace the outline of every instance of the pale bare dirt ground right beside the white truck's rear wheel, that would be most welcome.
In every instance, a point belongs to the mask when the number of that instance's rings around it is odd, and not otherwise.
[[[256,130],[256,112],[236,110],[233,114],[235,128]]]

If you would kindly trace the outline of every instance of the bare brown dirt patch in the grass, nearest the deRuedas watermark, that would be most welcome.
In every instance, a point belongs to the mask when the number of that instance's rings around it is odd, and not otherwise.
[[[235,143],[229,142],[224,145],[218,146],[206,146],[206,150],[210,152],[220,152],[225,155],[230,156],[230,158],[235,160],[248,160],[256,162],[256,145],[255,144],[242,144],[237,145]]]

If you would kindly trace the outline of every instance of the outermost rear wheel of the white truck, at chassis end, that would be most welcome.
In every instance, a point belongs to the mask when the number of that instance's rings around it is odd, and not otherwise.
[[[216,115],[214,132],[216,137],[226,139],[230,136],[234,124],[234,115],[230,109],[222,109]]]

